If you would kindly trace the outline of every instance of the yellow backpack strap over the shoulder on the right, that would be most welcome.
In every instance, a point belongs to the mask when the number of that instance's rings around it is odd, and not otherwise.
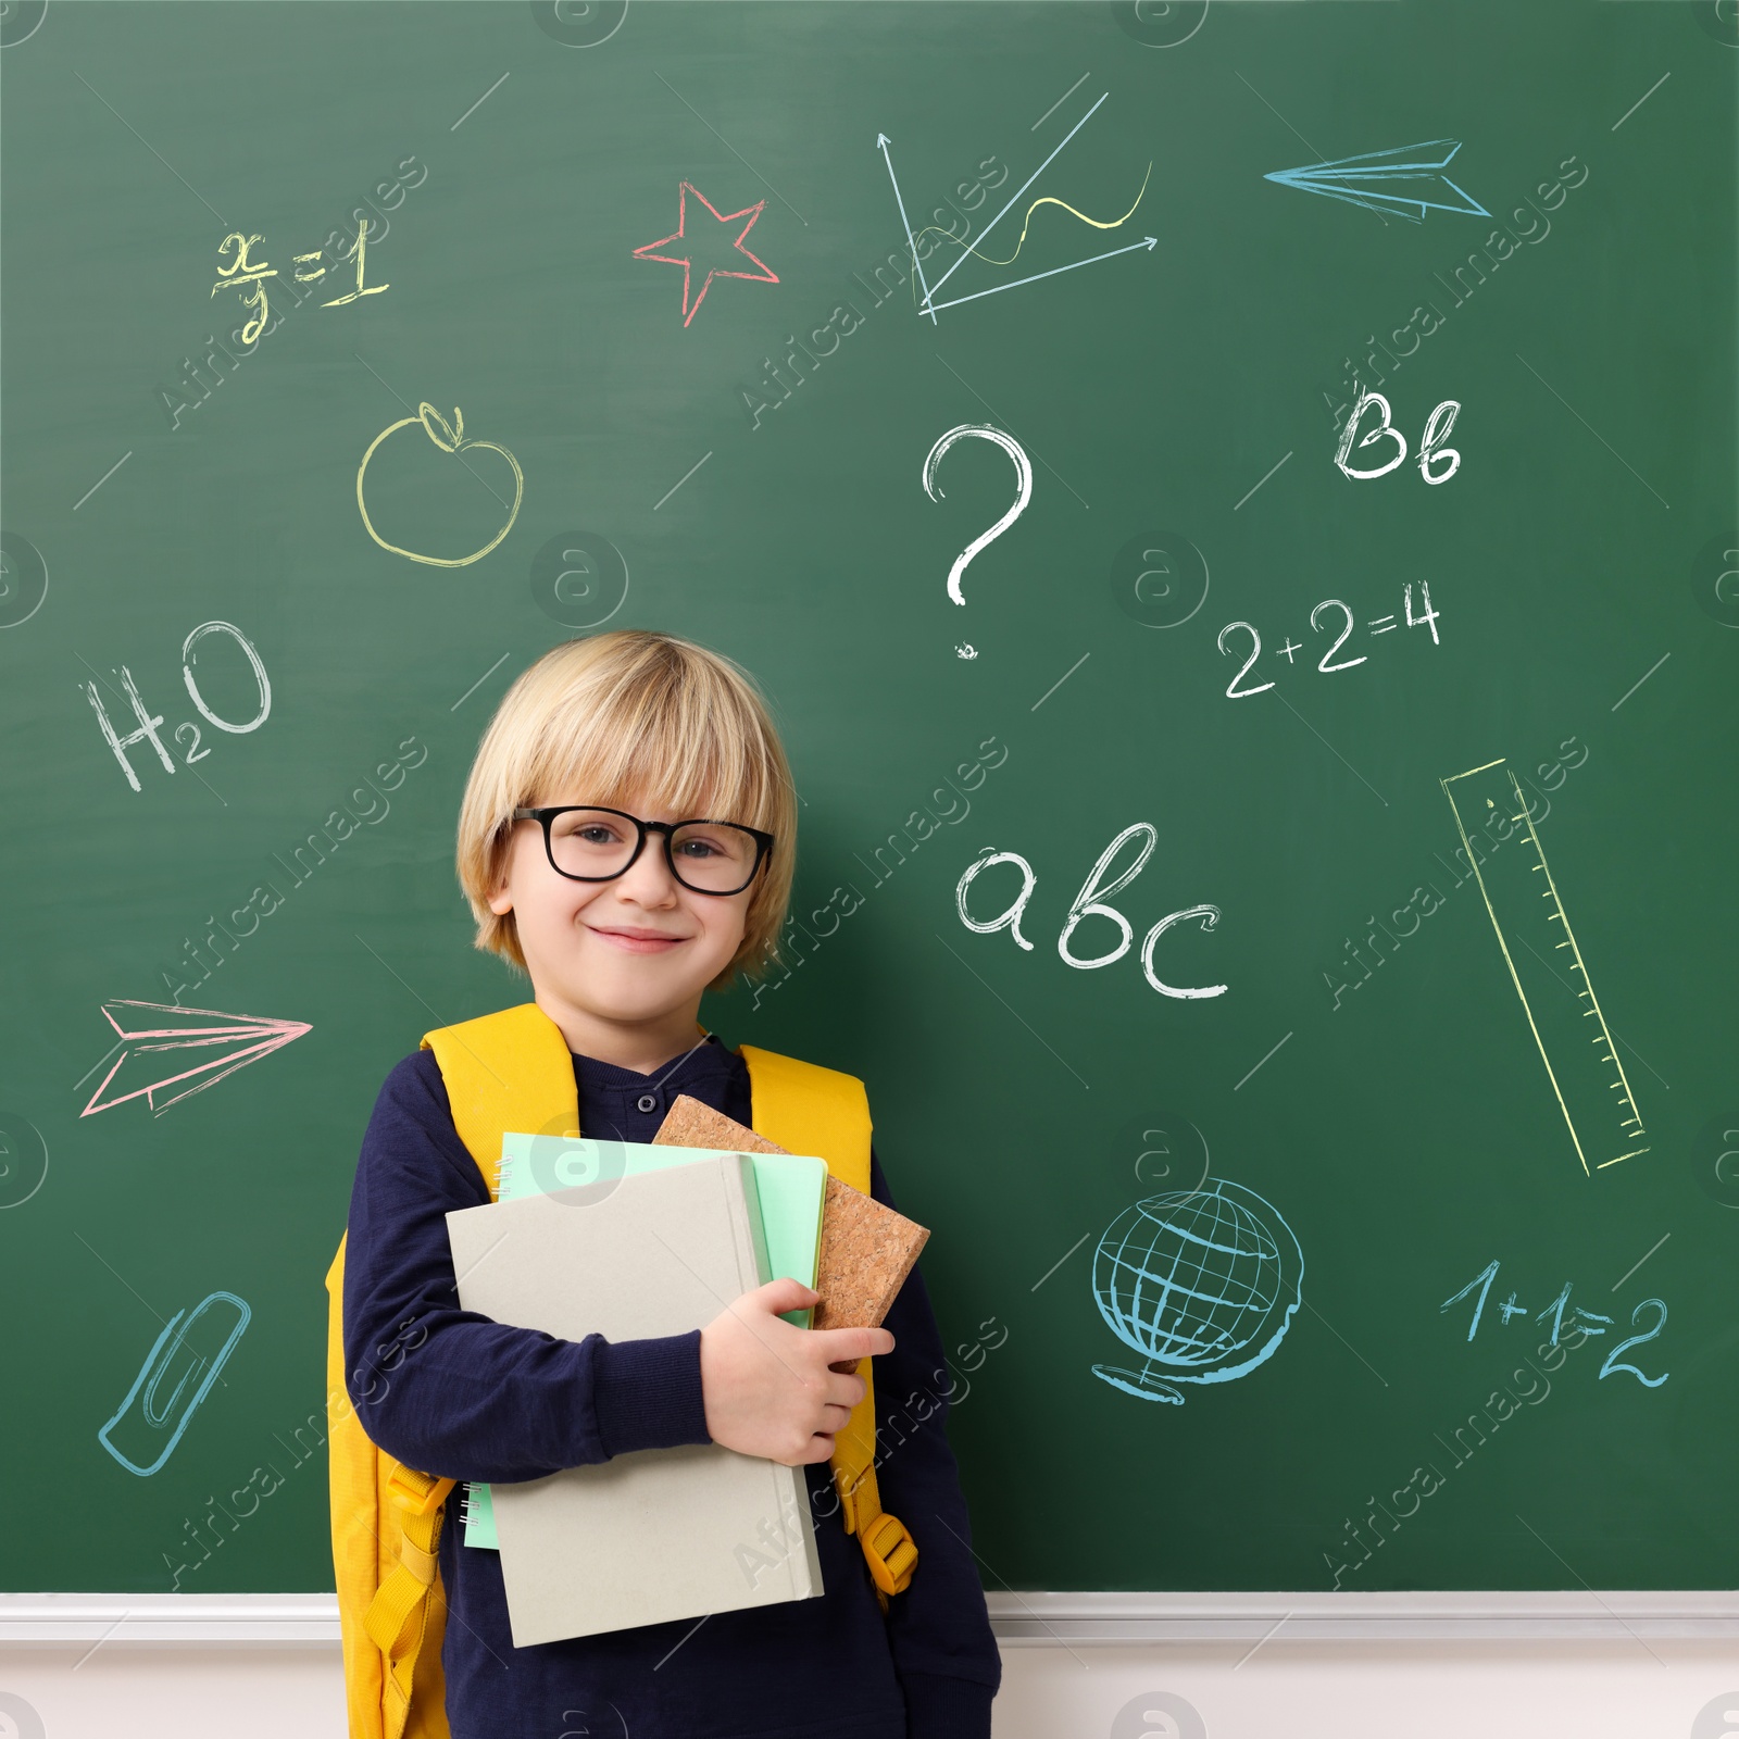
[[[781,1057],[774,1050],[743,1045],[750,1066],[755,1132],[790,1153],[814,1153],[831,1176],[870,1195],[870,1097],[852,1075]],[[882,1508],[875,1478],[875,1374],[859,1360],[864,1398],[845,1428],[833,1436],[833,1483],[840,1494],[845,1532],[857,1536],[876,1600],[887,1610],[889,1595],[911,1582],[918,1546],[906,1523]]]

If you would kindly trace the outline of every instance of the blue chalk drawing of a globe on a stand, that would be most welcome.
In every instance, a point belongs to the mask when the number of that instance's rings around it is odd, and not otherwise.
[[[1269,1358],[1303,1287],[1304,1252],[1254,1189],[1209,1177],[1148,1196],[1111,1221],[1092,1264],[1099,1315],[1146,1365],[1094,1365],[1094,1376],[1181,1405],[1174,1383],[1229,1383]]]

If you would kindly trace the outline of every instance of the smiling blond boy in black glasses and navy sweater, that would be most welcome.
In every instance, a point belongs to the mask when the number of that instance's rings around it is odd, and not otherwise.
[[[555,647],[513,683],[464,791],[459,880],[476,946],[530,977],[565,1040],[584,1134],[650,1141],[678,1094],[753,1120],[744,1059],[696,1017],[704,989],[772,955],[795,828],[784,751],[727,659],[605,633]],[[871,1193],[892,1205],[870,1163]],[[454,1513],[435,1523],[452,1739],[988,1739],[1002,1666],[918,1271],[883,1329],[796,1329],[777,1313],[817,1294],[777,1280],[690,1334],[558,1341],[459,1308],[443,1216],[489,1200],[436,1054],[417,1050],[381,1089],[334,1269],[344,1388],[367,1438],[431,1482],[534,1480],[706,1442],[803,1466],[826,1593],[515,1649],[499,1555],[463,1544]],[[878,1424],[909,1407],[876,1438],[880,1502],[918,1548],[885,1614],[828,1471],[864,1395],[861,1376],[830,1367],[861,1355],[875,1355]],[[440,1734],[414,1671],[403,1734]],[[355,1722],[355,1687],[351,1709]],[[386,1727],[402,1720],[400,1708]]]

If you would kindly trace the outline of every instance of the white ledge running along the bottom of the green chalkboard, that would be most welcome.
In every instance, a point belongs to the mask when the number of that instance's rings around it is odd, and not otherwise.
[[[1739,1640],[1739,1593],[1009,1593],[1003,1647]],[[0,1647],[336,1649],[332,1595],[0,1595]]]

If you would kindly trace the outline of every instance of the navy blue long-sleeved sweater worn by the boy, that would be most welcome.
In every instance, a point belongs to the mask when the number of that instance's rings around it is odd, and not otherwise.
[[[678,1094],[751,1122],[748,1064],[716,1040],[656,1076],[574,1057],[590,1136],[650,1141]],[[892,1200],[871,1158],[878,1202]],[[534,1480],[640,1449],[708,1443],[701,1332],[584,1341],[459,1308],[443,1216],[489,1191],[433,1052],[386,1078],[362,1144],[344,1261],[344,1365],[369,1436],[457,1480]],[[918,1542],[883,1617],[828,1462],[805,1471],[821,1598],[515,1649],[494,1551],[442,1529],[442,1662],[454,1739],[988,1739],[1002,1662],[943,1426],[953,1376],[913,1269],[875,1360],[882,1508]]]

